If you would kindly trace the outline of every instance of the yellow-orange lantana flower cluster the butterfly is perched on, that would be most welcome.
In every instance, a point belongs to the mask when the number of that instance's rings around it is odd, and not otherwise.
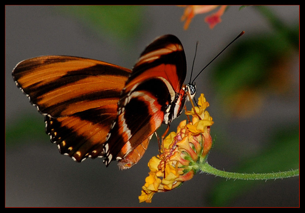
[[[142,187],[140,202],[150,203],[153,194],[172,190],[184,181],[192,179],[198,170],[198,163],[206,161],[212,147],[210,126],[212,117],[205,110],[209,106],[203,94],[199,97],[199,107],[185,114],[192,115],[192,122],[182,121],[177,133],[171,132],[163,141],[160,156],[152,157],[148,166],[149,176]],[[198,117],[199,116],[199,117]]]

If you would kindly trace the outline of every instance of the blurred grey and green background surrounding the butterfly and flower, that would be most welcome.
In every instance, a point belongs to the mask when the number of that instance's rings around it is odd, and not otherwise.
[[[204,18],[217,10],[196,15],[184,30],[184,8],[177,6],[5,6],[5,206],[299,206],[298,177],[233,181],[199,173],[178,189],[155,194],[151,204],[138,203],[147,163],[158,154],[156,138],[140,162],[125,171],[119,171],[116,162],[106,168],[102,159],[75,163],[50,143],[43,116],[11,76],[18,62],[41,55],[71,55],[132,68],[147,44],[170,33],[184,46],[188,81],[196,41],[198,73],[244,30],[196,79],[197,98],[205,94],[215,122],[211,135],[217,139],[208,162],[231,172],[297,169],[299,6],[239,7],[230,6],[213,29]],[[259,44],[266,48],[253,51]],[[253,55],[244,57],[249,52]],[[264,63],[251,61],[257,56]],[[170,131],[184,119],[176,119]],[[160,127],[159,135],[165,128]]]

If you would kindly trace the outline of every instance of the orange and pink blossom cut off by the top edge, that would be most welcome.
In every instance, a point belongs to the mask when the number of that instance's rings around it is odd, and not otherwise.
[[[181,21],[185,21],[184,29],[187,30],[189,24],[192,21],[192,18],[196,14],[210,12],[210,11],[216,9],[220,5],[181,5],[181,6],[186,7],[185,11],[184,11],[184,14],[181,17]],[[224,11],[225,11],[227,6],[228,5],[221,5],[220,9],[217,12],[213,13],[210,16],[206,16],[204,21],[209,24],[211,29],[216,24],[221,22],[221,18],[220,17],[222,16],[222,14],[224,14]]]

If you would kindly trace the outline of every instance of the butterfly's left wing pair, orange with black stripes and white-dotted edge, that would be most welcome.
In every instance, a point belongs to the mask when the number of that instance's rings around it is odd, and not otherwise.
[[[131,70],[71,56],[41,56],[13,70],[16,85],[45,115],[46,132],[77,162],[103,156],[120,93]]]

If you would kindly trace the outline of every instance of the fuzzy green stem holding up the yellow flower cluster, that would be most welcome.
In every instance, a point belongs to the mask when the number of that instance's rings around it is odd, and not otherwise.
[[[270,179],[283,179],[287,177],[299,176],[299,169],[285,171],[285,172],[274,172],[274,173],[235,173],[235,172],[225,172],[222,170],[215,169],[210,166],[207,162],[201,164],[199,169],[204,173],[209,173],[212,175],[228,178],[228,179],[239,179],[239,180],[270,180]]]

